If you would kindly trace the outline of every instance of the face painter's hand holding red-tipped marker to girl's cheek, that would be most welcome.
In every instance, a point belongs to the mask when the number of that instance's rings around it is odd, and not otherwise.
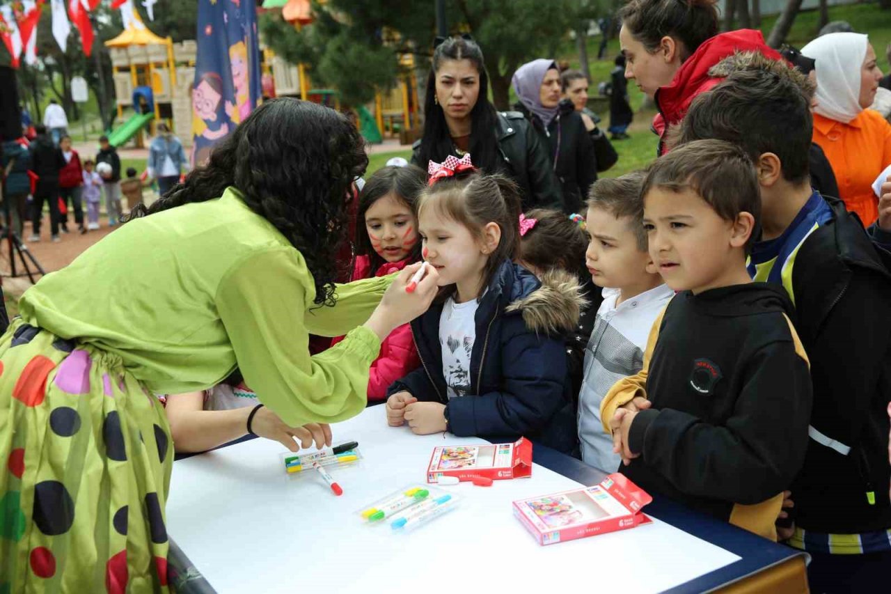
[[[405,289],[412,282],[413,276],[426,268],[426,274],[417,281],[413,292]],[[393,280],[392,285],[384,293],[380,305],[365,322],[365,327],[377,334],[381,341],[393,332],[396,326],[402,326],[427,311],[433,298],[437,296],[439,275],[436,268],[424,266],[422,262],[411,264]]]

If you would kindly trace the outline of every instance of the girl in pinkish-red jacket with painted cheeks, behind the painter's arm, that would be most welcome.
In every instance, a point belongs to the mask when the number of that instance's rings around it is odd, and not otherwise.
[[[378,169],[365,181],[356,212],[360,224],[351,280],[386,276],[421,260],[415,206],[426,179],[423,169],[408,166]],[[341,340],[334,339],[332,345]],[[398,326],[380,343],[380,355],[372,363],[369,402],[384,400],[389,385],[419,365],[411,329]]]

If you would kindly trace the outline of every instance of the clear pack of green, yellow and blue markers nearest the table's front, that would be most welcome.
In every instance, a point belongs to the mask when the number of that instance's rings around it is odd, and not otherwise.
[[[430,485],[409,484],[357,511],[368,526],[388,525],[390,532],[411,532],[452,511],[458,497]]]

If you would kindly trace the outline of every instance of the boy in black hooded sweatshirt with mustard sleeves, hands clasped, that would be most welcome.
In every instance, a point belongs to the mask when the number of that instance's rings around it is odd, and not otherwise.
[[[776,540],[782,491],[805,458],[811,377],[781,287],[746,270],[760,199],[739,147],[685,144],[642,189],[650,257],[678,291],[657,318],[642,371],[601,405],[622,472]]]

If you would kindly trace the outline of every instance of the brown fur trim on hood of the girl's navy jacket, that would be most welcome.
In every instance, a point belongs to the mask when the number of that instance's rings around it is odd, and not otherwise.
[[[542,276],[541,283],[532,293],[512,301],[505,312],[519,312],[526,327],[538,334],[555,336],[574,330],[587,304],[576,276],[551,270]]]

